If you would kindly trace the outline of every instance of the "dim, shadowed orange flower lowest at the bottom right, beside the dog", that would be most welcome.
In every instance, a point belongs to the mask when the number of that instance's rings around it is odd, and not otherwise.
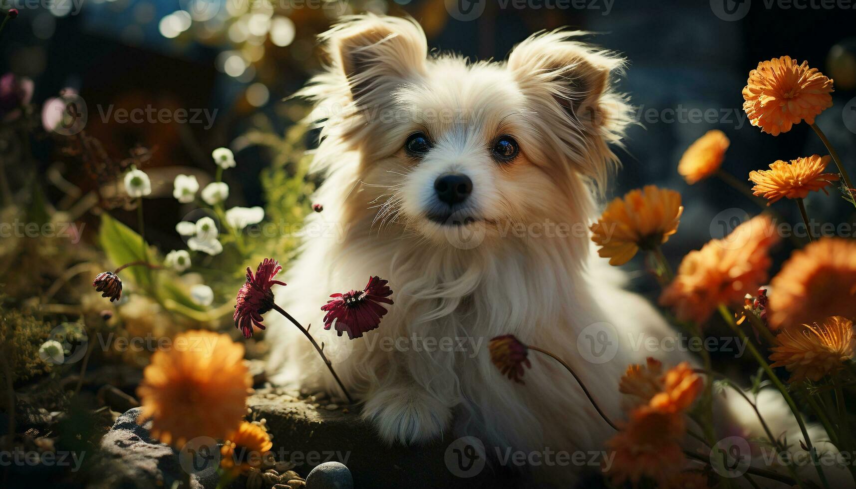
[[[627,481],[636,485],[643,477],[663,486],[684,465],[680,444],[684,432],[681,414],[663,413],[649,406],[635,409],[627,424],[606,443],[615,456],[604,469],[616,486]]]

